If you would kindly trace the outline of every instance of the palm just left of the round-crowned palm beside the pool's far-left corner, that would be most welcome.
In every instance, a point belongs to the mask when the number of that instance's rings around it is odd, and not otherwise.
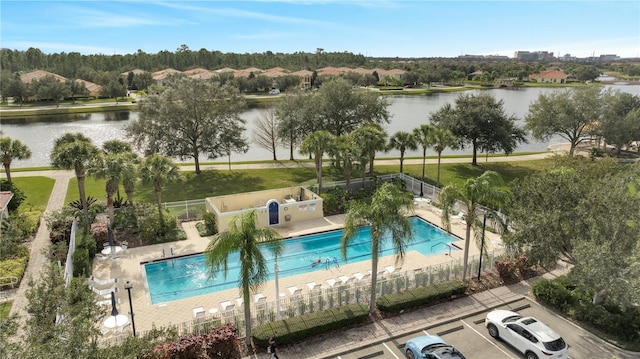
[[[97,179],[105,179],[107,193],[107,210],[109,212],[109,227],[113,229],[113,196],[120,187],[126,158],[124,155],[96,156],[87,167],[87,175]]]

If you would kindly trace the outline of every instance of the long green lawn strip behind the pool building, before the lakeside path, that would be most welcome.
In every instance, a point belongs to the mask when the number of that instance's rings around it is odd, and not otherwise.
[[[516,178],[522,178],[532,172],[540,170],[545,161],[520,161],[520,162],[489,162],[474,167],[470,163],[442,164],[440,181],[443,184],[462,183],[466,178],[475,177],[483,171],[493,170],[502,174],[505,184]],[[398,173],[399,165],[375,166],[377,174]],[[406,174],[419,178],[422,174],[422,165],[405,165]],[[426,167],[426,177],[435,180],[437,165],[429,164]],[[252,169],[252,170],[210,170],[203,171],[200,175],[193,172],[182,172],[184,181],[170,184],[162,192],[163,202],[175,202],[193,199],[202,199],[211,196],[219,196],[238,192],[260,191],[271,188],[289,187],[295,185],[310,185],[315,183],[315,170],[313,168],[291,169]],[[344,179],[334,169],[323,170],[325,182]],[[354,178],[354,181],[356,178]],[[87,196],[105,200],[104,180],[87,178]],[[125,194],[121,189],[121,196]],[[69,188],[65,203],[77,200],[78,185],[73,178],[69,182]],[[134,200],[142,202],[155,202],[155,194],[150,186],[139,185],[134,193]]]

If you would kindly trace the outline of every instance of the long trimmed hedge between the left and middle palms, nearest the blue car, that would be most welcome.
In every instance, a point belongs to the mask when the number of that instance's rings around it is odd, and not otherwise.
[[[254,328],[251,336],[258,348],[266,348],[269,338],[274,338],[278,344],[293,343],[347,325],[363,323],[368,317],[368,306],[350,304],[266,323]]]

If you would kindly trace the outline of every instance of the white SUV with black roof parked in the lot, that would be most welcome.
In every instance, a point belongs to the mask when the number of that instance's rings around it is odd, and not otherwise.
[[[527,359],[566,359],[569,347],[560,334],[534,317],[510,310],[487,313],[484,325],[493,338],[500,338]]]

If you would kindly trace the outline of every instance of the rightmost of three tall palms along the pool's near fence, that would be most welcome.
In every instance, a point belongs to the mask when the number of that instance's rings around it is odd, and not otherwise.
[[[468,178],[462,186],[448,185],[440,191],[440,203],[442,204],[442,225],[447,231],[451,231],[449,215],[457,203],[465,207],[463,220],[466,222],[466,234],[464,241],[464,263],[462,280],[467,277],[467,262],[469,261],[469,242],[471,228],[476,234],[476,242],[482,231],[478,224],[479,206],[485,205],[492,208],[501,208],[507,204],[509,192],[498,187],[502,183],[500,174],[494,171],[486,171],[476,178]]]

